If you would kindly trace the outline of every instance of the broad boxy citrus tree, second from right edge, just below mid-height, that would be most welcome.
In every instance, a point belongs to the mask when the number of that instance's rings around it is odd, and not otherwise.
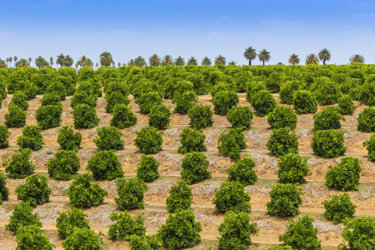
[[[318,130],[311,139],[311,148],[316,156],[335,158],[344,155],[344,132],[340,130]]]

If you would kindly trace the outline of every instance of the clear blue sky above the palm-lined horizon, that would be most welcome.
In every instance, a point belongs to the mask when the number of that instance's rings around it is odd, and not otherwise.
[[[247,64],[248,46],[271,52],[269,64],[322,48],[329,63],[353,54],[375,63],[375,1],[2,1],[0,58],[48,59],[60,53],[98,62],[109,51],[117,64],[151,54],[194,56]],[[253,61],[253,64],[260,62]],[[32,63],[34,65],[34,63]]]

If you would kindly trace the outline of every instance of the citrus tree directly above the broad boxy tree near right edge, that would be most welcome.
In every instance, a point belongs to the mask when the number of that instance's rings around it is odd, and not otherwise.
[[[334,106],[323,108],[320,112],[315,113],[314,130],[341,129],[340,120],[345,118],[340,114],[340,109]]]

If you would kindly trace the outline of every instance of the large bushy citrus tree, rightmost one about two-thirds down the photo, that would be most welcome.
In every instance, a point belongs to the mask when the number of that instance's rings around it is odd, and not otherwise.
[[[359,174],[362,172],[359,163],[358,158],[345,156],[337,166],[330,165],[324,176],[328,186],[344,192],[358,190]]]

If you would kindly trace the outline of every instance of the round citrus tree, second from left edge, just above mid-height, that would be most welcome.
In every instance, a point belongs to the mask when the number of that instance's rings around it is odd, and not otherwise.
[[[63,108],[61,105],[40,106],[36,110],[35,119],[39,127],[42,129],[50,129],[52,127],[60,126],[62,113]]]

